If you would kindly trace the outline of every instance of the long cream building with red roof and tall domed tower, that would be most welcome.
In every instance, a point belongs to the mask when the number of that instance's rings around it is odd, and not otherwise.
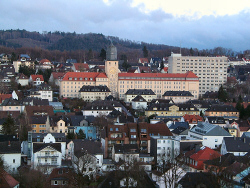
[[[125,99],[129,89],[151,89],[157,96],[168,91],[189,91],[194,99],[199,97],[199,78],[193,72],[182,73],[120,73],[114,45],[107,49],[105,73],[68,72],[60,83],[60,96],[78,97],[83,85],[106,85],[114,97]]]

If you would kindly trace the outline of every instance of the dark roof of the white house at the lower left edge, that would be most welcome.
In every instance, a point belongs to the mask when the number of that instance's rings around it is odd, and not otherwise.
[[[19,141],[0,142],[0,154],[21,153],[21,143]]]

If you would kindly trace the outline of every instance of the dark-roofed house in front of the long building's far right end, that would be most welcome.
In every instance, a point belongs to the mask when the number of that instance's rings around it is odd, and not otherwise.
[[[194,99],[194,96],[189,91],[166,91],[162,98],[172,99],[174,103],[184,103]]]

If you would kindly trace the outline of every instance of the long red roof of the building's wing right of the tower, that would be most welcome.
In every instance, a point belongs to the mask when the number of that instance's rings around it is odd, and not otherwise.
[[[198,80],[198,76],[196,76],[193,72],[188,71],[187,73],[119,73],[119,77],[130,77],[138,78],[196,78]]]

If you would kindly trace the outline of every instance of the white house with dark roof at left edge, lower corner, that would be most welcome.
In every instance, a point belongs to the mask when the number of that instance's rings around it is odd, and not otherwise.
[[[21,143],[19,141],[4,141],[0,142],[0,148],[0,156],[8,167],[5,170],[11,174],[17,174],[18,167],[21,166]]]

